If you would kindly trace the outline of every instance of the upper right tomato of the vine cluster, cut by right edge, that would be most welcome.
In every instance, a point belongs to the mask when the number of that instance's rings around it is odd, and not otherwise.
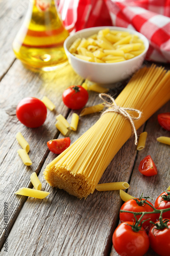
[[[167,192],[163,192],[155,201],[155,208],[156,209],[167,209],[170,208],[170,190]],[[170,210],[163,212],[163,218],[170,219]],[[170,238],[169,238],[170,239]]]

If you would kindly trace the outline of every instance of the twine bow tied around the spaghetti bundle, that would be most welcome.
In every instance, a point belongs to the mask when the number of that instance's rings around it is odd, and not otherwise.
[[[102,115],[104,115],[105,113],[108,113],[108,112],[115,112],[115,113],[118,113],[118,114],[123,115],[124,117],[128,118],[128,120],[131,123],[132,130],[135,134],[135,145],[137,145],[137,132],[136,132],[136,128],[135,128],[133,120],[140,119],[142,112],[139,110],[136,110],[136,109],[124,108],[123,106],[118,106],[116,104],[115,100],[108,94],[101,93],[101,94],[99,94],[99,97],[104,101],[104,105],[108,108],[107,110],[105,110],[102,113]],[[104,99],[104,97],[109,98],[112,102],[107,101],[106,99]],[[138,113],[138,117],[134,117],[134,116],[130,115],[127,112],[127,110]]]

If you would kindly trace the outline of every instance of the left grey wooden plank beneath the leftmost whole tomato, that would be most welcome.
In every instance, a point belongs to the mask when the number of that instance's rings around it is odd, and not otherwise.
[[[64,75],[65,72],[68,76]],[[62,103],[62,92],[72,83],[82,83],[82,78],[77,76],[69,65],[64,70],[38,74],[23,68],[19,60],[15,61],[0,83],[0,201],[1,205],[4,205],[4,202],[8,202],[9,205],[9,231],[26,200],[26,198],[15,197],[13,193],[21,186],[31,186],[31,173],[40,172],[49,152],[46,142],[59,134],[55,127],[55,117],[59,113],[64,116],[68,113],[68,109]],[[56,104],[56,109],[53,112],[47,111],[47,118],[42,126],[29,129],[17,120],[16,105],[22,98],[33,96],[42,99],[44,95]],[[17,154],[20,145],[15,135],[19,131],[30,143],[29,156],[33,162],[31,166],[23,165]],[[0,215],[0,226],[3,227],[3,207]],[[4,231],[1,230],[0,246],[4,243]]]

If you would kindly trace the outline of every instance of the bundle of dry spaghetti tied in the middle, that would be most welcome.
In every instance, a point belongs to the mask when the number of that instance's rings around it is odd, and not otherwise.
[[[170,99],[170,72],[162,67],[141,68],[115,99],[118,106],[142,112],[136,130]],[[136,115],[130,111],[129,114]],[[92,194],[105,169],[131,137],[132,126],[123,115],[103,114],[80,138],[49,163],[45,180],[78,198]]]

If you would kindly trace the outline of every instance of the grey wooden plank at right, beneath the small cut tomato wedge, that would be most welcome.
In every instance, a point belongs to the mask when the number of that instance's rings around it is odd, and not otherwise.
[[[140,197],[143,193],[144,197],[150,196],[152,204],[156,198],[164,191],[170,184],[170,147],[169,145],[159,143],[156,138],[160,136],[169,137],[170,133],[162,129],[157,121],[157,115],[160,113],[169,112],[170,102],[166,103],[159,111],[157,111],[148,121],[144,131],[148,132],[147,142],[145,148],[139,151],[136,157],[132,177],[130,180],[130,187],[128,193],[134,197]],[[140,161],[145,157],[151,155],[154,160],[158,175],[146,177],[139,173],[138,166]],[[110,256],[117,256],[112,247]],[[150,249],[146,256],[157,255]]]

